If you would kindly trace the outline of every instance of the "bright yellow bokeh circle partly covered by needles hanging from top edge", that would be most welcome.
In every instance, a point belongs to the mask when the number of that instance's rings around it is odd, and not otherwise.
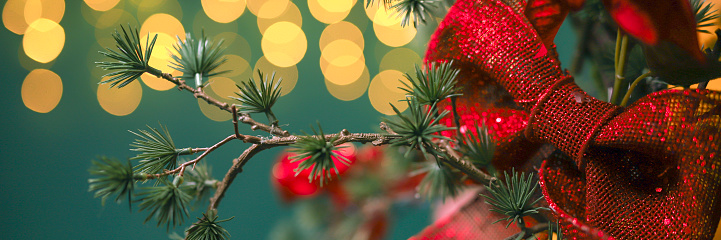
[[[401,27],[401,17],[393,11],[378,8],[373,16],[373,31],[383,44],[391,47],[400,47],[408,44],[416,36],[416,28],[412,26]]]

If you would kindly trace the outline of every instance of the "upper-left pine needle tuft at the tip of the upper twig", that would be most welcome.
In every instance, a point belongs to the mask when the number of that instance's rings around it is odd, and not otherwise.
[[[103,75],[103,77],[110,76],[111,78],[100,84],[110,83],[111,88],[115,86],[122,88],[138,79],[143,73],[147,72],[158,77],[162,74],[160,70],[148,65],[158,35],[156,34],[152,41],[149,41],[150,38],[146,39],[145,51],[143,51],[138,29],[130,29],[130,26],[128,28],[129,30],[126,31],[121,25],[122,34],[117,29],[113,33],[118,51],[110,48],[105,48],[106,52],[100,51],[100,54],[117,60],[116,62],[95,62],[100,68],[114,70],[114,72]]]

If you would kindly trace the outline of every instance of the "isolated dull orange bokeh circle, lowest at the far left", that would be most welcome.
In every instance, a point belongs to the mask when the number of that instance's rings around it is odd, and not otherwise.
[[[53,71],[35,69],[25,77],[20,91],[27,108],[39,113],[47,113],[60,102],[63,96],[63,82]]]

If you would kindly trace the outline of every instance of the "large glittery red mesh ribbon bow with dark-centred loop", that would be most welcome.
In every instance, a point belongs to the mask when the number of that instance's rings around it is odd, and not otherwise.
[[[429,43],[426,61],[453,60],[477,91],[459,100],[464,124],[498,116],[494,137],[515,156],[542,143],[558,150],[540,182],[572,238],[711,239],[721,218],[721,94],[665,90],[625,109],[594,99],[561,70],[524,2],[508,2],[458,0]]]

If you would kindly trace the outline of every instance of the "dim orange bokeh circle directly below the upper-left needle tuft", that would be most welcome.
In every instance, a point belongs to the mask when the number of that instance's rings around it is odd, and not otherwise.
[[[105,81],[110,77],[105,77],[101,81]],[[125,116],[133,113],[140,99],[143,97],[143,88],[139,81],[125,85],[122,88],[110,88],[110,85],[98,85],[98,103],[106,112],[115,116]]]

